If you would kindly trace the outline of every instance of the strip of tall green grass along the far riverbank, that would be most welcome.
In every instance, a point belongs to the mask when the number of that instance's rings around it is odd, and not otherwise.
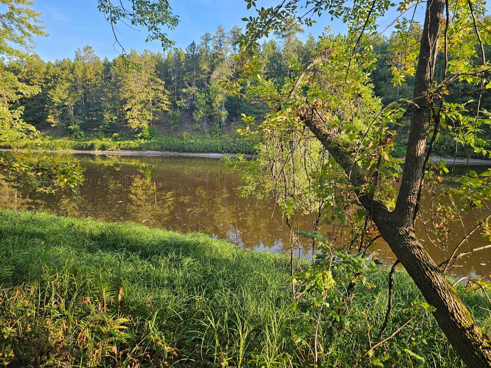
[[[254,154],[253,142],[237,137],[188,137],[176,138],[159,136],[153,140],[109,140],[70,138],[48,138],[41,140],[22,140],[19,142],[0,142],[1,148],[25,148],[32,150],[135,150],[135,151],[175,151],[192,153],[245,153]]]

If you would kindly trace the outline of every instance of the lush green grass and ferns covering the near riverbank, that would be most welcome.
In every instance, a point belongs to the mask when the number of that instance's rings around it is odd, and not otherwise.
[[[305,367],[312,354],[292,339],[290,319],[301,315],[290,307],[288,272],[283,255],[242,251],[204,234],[0,210],[0,362]],[[326,367],[334,357],[353,367],[367,349],[367,332],[376,336],[387,273],[367,274],[377,287],[355,290],[351,325],[334,340],[321,323]],[[398,271],[393,317],[407,317],[401,306],[414,300],[419,291]],[[465,301],[489,331],[485,299],[469,293]],[[428,342],[419,346],[425,366],[462,366],[431,315],[418,316],[396,339],[414,336]],[[383,348],[396,361],[409,354]]]

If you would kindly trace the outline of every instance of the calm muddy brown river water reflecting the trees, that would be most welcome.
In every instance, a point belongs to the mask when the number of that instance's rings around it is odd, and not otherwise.
[[[247,249],[272,252],[288,249],[289,231],[274,201],[240,198],[234,190],[240,185],[237,173],[226,170],[219,159],[92,155],[71,155],[70,159],[74,156],[85,169],[78,202],[73,201],[67,191],[20,192],[1,184],[0,206],[17,210],[42,209],[106,221],[131,220],[180,232],[201,231]],[[473,169],[481,172],[486,168]],[[481,214],[482,217],[487,215]],[[456,224],[455,239],[452,239],[455,244],[465,236],[465,231],[475,226],[473,215],[463,214],[462,219],[466,229]],[[300,218],[300,229],[309,231],[310,225],[309,216]],[[431,243],[421,226],[417,235],[436,262],[445,260],[446,252]],[[486,241],[488,239],[476,231],[468,246],[471,249],[483,246]],[[311,257],[309,242],[302,245],[302,256]],[[450,246],[449,252],[452,250]],[[465,250],[467,244],[461,251]],[[385,263],[395,260],[383,240],[376,242],[373,252]],[[461,267],[454,270],[456,275],[488,277],[491,249],[463,257],[459,265]]]

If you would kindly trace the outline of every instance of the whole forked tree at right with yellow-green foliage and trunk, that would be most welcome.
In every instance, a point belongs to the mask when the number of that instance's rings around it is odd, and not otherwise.
[[[256,6],[255,1],[246,2],[248,8]],[[490,85],[485,51],[485,44],[491,43],[490,21],[484,1],[431,0],[425,5],[425,20],[420,25],[406,18],[419,4],[293,0],[256,8],[256,17],[244,19],[248,21],[246,32],[237,41],[240,76],[224,85],[239,96],[270,106],[264,121],[244,116],[246,125],[239,130],[262,141],[260,159],[250,163],[253,171],[247,174],[251,190],[273,190],[287,221],[299,211],[309,211],[317,214],[313,216],[314,230],[319,222],[333,226],[330,237],[304,234],[322,246],[323,254],[314,263],[317,271],[310,279],[325,282],[327,278],[325,292],[309,294],[309,289],[318,286],[315,282],[300,283],[299,292],[294,283],[294,298],[300,303],[309,295],[302,303],[310,303],[314,310],[330,309],[330,269],[337,262],[332,257],[334,249],[348,246],[365,252],[375,238],[382,237],[467,365],[490,367],[489,338],[445,278],[461,254],[459,247],[438,265],[414,235],[415,221],[431,223],[428,228],[434,241],[444,244],[448,241],[445,230],[458,221],[458,211],[473,211],[490,199],[490,171],[481,175],[471,171],[457,179],[457,189],[442,190],[440,175],[448,170],[443,161],[430,160],[435,142],[442,139],[464,144],[468,151],[489,154],[489,142],[481,133],[491,123],[482,105]],[[414,79],[409,86],[412,96],[399,95],[383,105],[374,96],[373,73],[381,65],[374,50],[381,36],[377,20],[391,7],[396,7],[399,16],[394,20],[396,30],[389,39],[385,65],[394,85],[402,87]],[[284,83],[262,78],[259,40],[271,32],[282,34],[285,24],[310,26],[313,15],[339,18],[349,25],[349,31],[321,37],[310,60],[293,65]],[[436,72],[438,56],[443,63],[441,72]],[[454,99],[462,82],[467,83],[465,96],[460,90]],[[391,152],[405,122],[409,130],[403,166]],[[420,210],[422,206],[430,219]],[[483,220],[477,226],[487,229]],[[340,244],[347,227],[350,240]],[[486,230],[485,234],[490,235]],[[292,240],[292,256],[294,248]],[[338,309],[331,311],[337,314]],[[371,345],[363,359],[373,359],[373,363],[389,359],[374,351],[382,343]]]

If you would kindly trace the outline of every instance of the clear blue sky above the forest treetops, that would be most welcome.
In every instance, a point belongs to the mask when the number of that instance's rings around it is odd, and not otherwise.
[[[258,6],[270,6],[277,0],[256,0]],[[247,12],[244,0],[170,0],[174,14],[179,15],[180,24],[174,31],[168,31],[170,39],[177,42],[177,47],[186,48],[193,40],[199,42],[204,32],[213,33],[218,24],[226,29],[234,24],[244,26],[241,18],[252,15],[252,9]],[[90,45],[95,52],[104,58],[113,58],[119,54],[120,49],[113,48],[114,37],[111,27],[97,10],[97,0],[35,0],[34,9],[41,11],[41,20],[50,34],[48,38],[36,39],[36,53],[44,60],[54,61],[56,58],[73,58],[77,48]],[[332,31],[345,32],[345,26],[330,17],[321,19],[316,17],[318,23],[313,27],[305,28],[303,38],[308,33],[320,35],[326,26],[332,25]],[[382,26],[385,26],[383,22]],[[145,43],[146,33],[137,32],[124,25],[119,27],[123,34],[118,38],[125,49],[148,49],[161,51],[159,42]]]

